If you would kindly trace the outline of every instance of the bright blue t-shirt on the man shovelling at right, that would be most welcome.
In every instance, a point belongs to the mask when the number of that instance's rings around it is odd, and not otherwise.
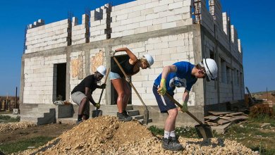
[[[191,87],[197,82],[197,78],[192,75],[192,69],[195,67],[192,63],[181,61],[173,63],[176,66],[177,71],[169,73],[166,77],[166,89],[167,92],[173,95],[173,90],[176,87],[185,87],[190,91]],[[161,81],[161,74],[154,80],[154,85],[159,86]]]

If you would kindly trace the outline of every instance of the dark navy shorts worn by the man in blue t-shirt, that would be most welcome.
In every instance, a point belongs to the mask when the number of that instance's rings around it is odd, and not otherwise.
[[[176,105],[166,96],[161,96],[157,92],[157,86],[153,86],[154,97],[157,99],[157,104],[161,113],[168,113],[170,109],[176,109]]]

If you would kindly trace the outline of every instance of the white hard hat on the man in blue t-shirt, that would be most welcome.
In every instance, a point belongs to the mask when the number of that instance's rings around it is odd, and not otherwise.
[[[202,60],[204,69],[207,73],[207,81],[214,80],[218,76],[218,67],[212,58],[204,58]]]

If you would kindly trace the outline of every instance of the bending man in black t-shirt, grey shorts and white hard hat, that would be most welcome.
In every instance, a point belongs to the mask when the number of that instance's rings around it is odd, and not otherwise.
[[[94,99],[92,99],[92,92],[94,92],[97,88],[104,89],[106,87],[106,84],[102,84],[100,86],[97,85],[97,82],[102,80],[102,77],[105,75],[106,68],[104,66],[99,66],[94,74],[85,77],[71,92],[73,102],[79,106],[78,120],[76,121],[76,124],[79,124],[82,120],[87,120],[89,118],[89,101],[99,109],[100,104],[96,103]]]

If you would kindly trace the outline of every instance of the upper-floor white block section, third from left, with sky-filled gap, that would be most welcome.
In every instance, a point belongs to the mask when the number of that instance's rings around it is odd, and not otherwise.
[[[105,4],[90,12],[90,42],[109,39],[111,5]]]

